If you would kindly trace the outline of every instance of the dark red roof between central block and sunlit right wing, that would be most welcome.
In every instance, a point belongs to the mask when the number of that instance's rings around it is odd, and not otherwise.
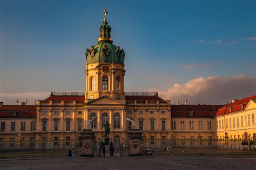
[[[172,105],[172,117],[214,117],[223,105]],[[193,111],[193,116],[189,112]]]

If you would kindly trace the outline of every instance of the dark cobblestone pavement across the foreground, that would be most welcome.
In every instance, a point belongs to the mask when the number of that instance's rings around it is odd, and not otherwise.
[[[255,157],[142,156],[0,159],[0,169],[256,169]]]

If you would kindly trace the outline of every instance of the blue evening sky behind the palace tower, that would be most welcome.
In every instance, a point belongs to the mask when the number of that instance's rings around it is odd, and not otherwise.
[[[126,91],[184,89],[212,76],[255,82],[255,1],[0,3],[1,101],[14,103],[18,93],[84,91],[84,52],[97,44],[104,7],[113,44],[126,52]],[[165,99],[179,97],[173,93]],[[232,94],[245,97],[232,91],[228,98]]]

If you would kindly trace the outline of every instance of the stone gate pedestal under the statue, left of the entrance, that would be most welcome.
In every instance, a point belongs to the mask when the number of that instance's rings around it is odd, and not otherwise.
[[[81,132],[81,137],[83,146],[80,150],[81,157],[93,157],[94,132],[91,129],[84,129]]]

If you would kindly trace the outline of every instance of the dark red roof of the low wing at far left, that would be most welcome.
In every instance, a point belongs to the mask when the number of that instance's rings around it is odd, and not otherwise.
[[[3,107],[0,107],[0,117],[12,117],[11,116],[12,112],[17,112],[15,117],[36,117],[36,106],[35,105],[3,105]]]

